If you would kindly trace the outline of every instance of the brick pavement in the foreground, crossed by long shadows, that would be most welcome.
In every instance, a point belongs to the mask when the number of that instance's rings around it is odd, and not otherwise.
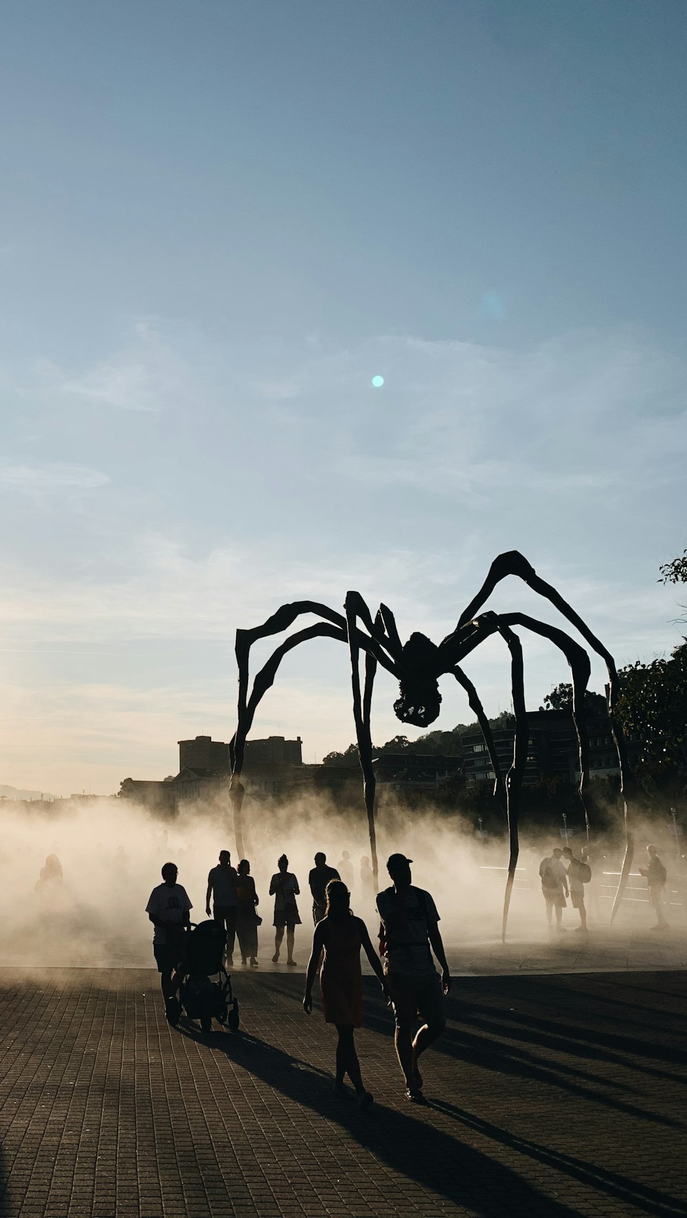
[[[2,1218],[687,1214],[683,973],[460,979],[424,1108],[365,978],[369,1113],[302,976],[235,984],[202,1037],[149,970],[0,970]]]

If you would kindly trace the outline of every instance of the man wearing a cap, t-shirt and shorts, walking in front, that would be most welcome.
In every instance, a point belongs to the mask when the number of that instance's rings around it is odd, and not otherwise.
[[[412,861],[403,854],[390,856],[386,868],[392,887],[378,893],[376,907],[381,918],[380,952],[385,959],[386,984],[396,1017],[396,1054],[406,1079],[406,1096],[414,1104],[423,1104],[418,1058],[446,1028],[443,995],[451,989],[451,976],[439,933],[436,905],[429,893],[410,883]],[[432,951],[441,965],[441,977]],[[413,1039],[418,1015],[423,1026]]]

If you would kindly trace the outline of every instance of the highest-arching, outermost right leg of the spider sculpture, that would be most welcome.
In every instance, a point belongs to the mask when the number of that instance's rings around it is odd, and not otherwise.
[[[458,620],[458,626],[456,628],[456,635],[459,633],[460,628],[469,622],[475,613],[484,605],[487,597],[493,592],[497,583],[506,579],[507,575],[518,575],[525,583],[529,585],[540,596],[546,597],[563,615],[568,621],[580,631],[582,638],[587,641],[590,647],[601,655],[605,663],[609,685],[608,685],[608,717],[610,720],[610,730],[613,739],[615,743],[615,750],[618,753],[618,766],[620,770],[620,790],[622,794],[624,804],[624,821],[625,821],[625,857],[622,860],[622,868],[620,872],[620,879],[618,883],[618,892],[615,894],[615,900],[613,903],[613,910],[610,914],[610,921],[613,923],[615,915],[620,907],[625,888],[627,885],[627,879],[630,876],[630,870],[632,866],[632,857],[635,854],[635,836],[631,827],[631,800],[635,795],[635,781],[627,761],[627,750],[625,747],[625,738],[620,725],[615,720],[615,704],[620,693],[620,682],[618,678],[618,670],[615,667],[615,661],[610,652],[603,646],[601,639],[597,638],[594,633],[590,630],[587,624],[575,613],[571,605],[560,596],[559,592],[546,580],[542,580],[537,575],[534,566],[527,561],[523,554],[518,551],[509,551],[506,554],[499,554],[498,558],[491,564],[487,577],[473,598],[468,608],[463,611]],[[449,636],[451,638],[452,636]]]

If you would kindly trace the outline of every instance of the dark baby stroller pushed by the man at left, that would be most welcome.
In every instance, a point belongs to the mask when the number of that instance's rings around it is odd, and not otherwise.
[[[211,1032],[212,1021],[239,1030],[239,1001],[231,991],[231,980],[224,968],[223,956],[227,932],[219,922],[201,922],[186,934],[183,957],[177,966],[180,978],[179,998],[167,1006],[167,1018],[177,1027],[181,1011],[190,1019],[200,1019],[203,1032]],[[211,980],[217,977],[217,980]]]

